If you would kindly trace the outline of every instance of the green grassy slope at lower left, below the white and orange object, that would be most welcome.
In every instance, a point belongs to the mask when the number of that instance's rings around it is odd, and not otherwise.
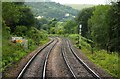
[[[37,46],[31,45],[29,49],[25,50],[20,44],[15,44],[4,39],[2,47],[2,71],[4,71],[7,67],[13,65],[12,63],[18,62]]]

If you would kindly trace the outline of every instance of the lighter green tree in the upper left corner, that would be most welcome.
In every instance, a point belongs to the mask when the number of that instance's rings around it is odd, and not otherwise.
[[[2,3],[2,17],[5,24],[11,28],[11,32],[14,32],[15,26],[19,21],[20,12],[18,7],[11,2]]]

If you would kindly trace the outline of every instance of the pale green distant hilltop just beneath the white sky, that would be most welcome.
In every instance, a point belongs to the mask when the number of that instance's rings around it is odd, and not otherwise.
[[[74,9],[77,9],[77,10],[82,10],[84,8],[95,6],[93,4],[64,4],[64,5],[70,6],[70,7],[74,8]]]

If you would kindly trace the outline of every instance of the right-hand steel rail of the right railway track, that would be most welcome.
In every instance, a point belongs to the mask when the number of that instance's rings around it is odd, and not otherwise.
[[[67,41],[67,40],[66,40]],[[69,43],[69,40],[67,41],[67,44],[69,46],[69,49],[72,51],[72,53],[74,54],[74,56],[78,59],[78,61],[83,65],[83,67],[89,72],[91,73],[91,75],[96,78],[96,79],[101,79],[101,77],[95,73],[80,57],[78,57],[78,55],[75,53],[75,51],[73,50],[71,44]]]

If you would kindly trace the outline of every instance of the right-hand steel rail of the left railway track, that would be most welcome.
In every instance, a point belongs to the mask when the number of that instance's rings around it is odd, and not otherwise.
[[[58,42],[58,39],[57,39],[57,41],[55,42],[55,44],[50,48],[50,50],[49,50],[48,53],[47,53],[47,56],[46,56],[45,62],[44,62],[42,79],[45,79],[45,78],[46,78],[46,67],[47,67],[48,57],[49,57],[50,52],[52,51],[52,49],[53,49],[53,48],[55,47],[55,45],[57,44],[57,42]]]

